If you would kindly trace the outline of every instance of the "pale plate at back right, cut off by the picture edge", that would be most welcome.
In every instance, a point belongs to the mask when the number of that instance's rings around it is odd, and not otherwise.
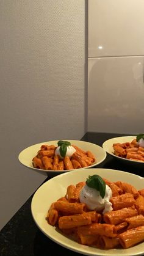
[[[132,142],[133,139],[135,139],[136,136],[123,136],[123,137],[114,137],[112,139],[108,139],[103,143],[104,150],[109,153],[110,155],[114,156],[117,159],[120,159],[121,161],[124,161],[129,164],[136,164],[142,166],[144,162],[140,161],[134,161],[126,158],[121,158],[120,156],[116,156],[113,154],[113,143],[124,143],[124,142]]]

